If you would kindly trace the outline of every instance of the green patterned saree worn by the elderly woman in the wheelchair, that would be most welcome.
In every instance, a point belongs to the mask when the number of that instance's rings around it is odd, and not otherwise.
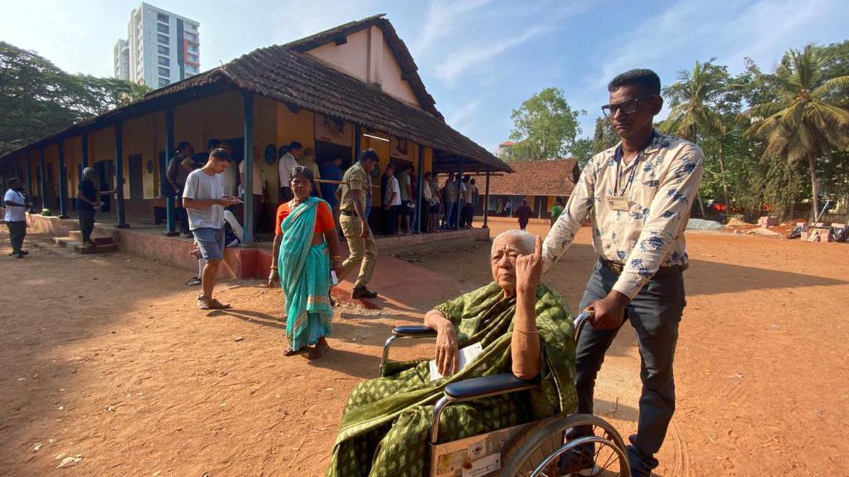
[[[480,342],[483,352],[459,373],[430,380],[429,360],[393,363],[386,375],[357,384],[342,416],[327,471],[335,477],[424,475],[430,414],[446,384],[511,372],[510,338],[516,300],[490,283],[436,306],[457,330],[459,347]],[[442,412],[440,442],[571,413],[575,342],[563,300],[537,287],[537,328],[542,342],[541,385],[534,390],[452,404]]]

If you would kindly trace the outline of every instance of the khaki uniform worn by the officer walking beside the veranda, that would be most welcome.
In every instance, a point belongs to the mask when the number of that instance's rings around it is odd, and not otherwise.
[[[354,199],[351,194],[354,191],[360,191],[363,207],[365,207],[365,194],[371,194],[371,189],[368,188],[370,183],[371,178],[368,177],[368,173],[357,162],[345,171],[340,185],[342,215],[339,222],[342,233],[345,233],[351,255],[348,255],[348,259],[342,264],[342,277],[339,279],[347,277],[355,268],[360,267],[360,273],[354,283],[355,288],[365,287],[371,281],[377,258],[377,242],[374,241],[374,235],[369,231],[368,237],[365,239],[360,237],[360,233],[363,233],[363,218],[355,216],[357,211],[354,209]]]

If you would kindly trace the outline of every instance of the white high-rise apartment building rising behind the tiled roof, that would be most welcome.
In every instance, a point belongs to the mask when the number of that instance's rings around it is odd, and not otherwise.
[[[197,21],[142,3],[130,14],[127,40],[115,43],[115,77],[157,88],[197,75],[199,27]]]

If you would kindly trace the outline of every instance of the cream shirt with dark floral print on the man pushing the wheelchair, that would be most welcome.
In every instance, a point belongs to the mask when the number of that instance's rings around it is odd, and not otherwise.
[[[617,167],[620,148],[617,144],[595,154],[582,171],[543,244],[543,273],[565,254],[590,216],[593,249],[623,266],[613,289],[633,299],[659,267],[687,266],[684,230],[705,172],[705,155],[694,143],[657,131],[637,158]],[[624,194],[614,191],[617,184]],[[627,199],[627,210],[611,207],[609,198],[616,195]]]

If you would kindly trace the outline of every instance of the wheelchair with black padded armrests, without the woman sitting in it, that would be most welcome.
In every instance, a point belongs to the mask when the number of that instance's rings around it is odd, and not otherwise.
[[[588,311],[576,317],[576,341],[589,317]],[[436,331],[423,325],[398,326],[392,330],[383,347],[381,376],[389,362],[391,345],[397,340],[417,338],[436,338]],[[512,373],[448,384],[432,414],[428,443],[430,477],[631,475],[621,435],[603,418],[592,414],[554,416],[459,441],[438,441],[440,416],[448,405],[531,390],[537,385]]]

